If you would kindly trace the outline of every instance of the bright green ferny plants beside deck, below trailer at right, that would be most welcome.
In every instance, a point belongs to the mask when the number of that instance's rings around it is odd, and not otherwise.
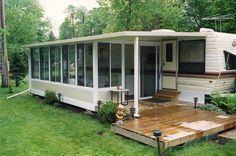
[[[232,113],[236,110],[236,95],[235,94],[225,94],[221,95],[219,93],[213,94],[211,103],[217,107],[223,109],[228,113]]]

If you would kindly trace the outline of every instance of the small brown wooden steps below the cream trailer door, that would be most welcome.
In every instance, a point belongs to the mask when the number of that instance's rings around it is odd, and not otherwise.
[[[156,91],[156,93],[154,94],[154,99],[168,100],[177,103],[179,94],[180,92],[177,90],[163,89]]]

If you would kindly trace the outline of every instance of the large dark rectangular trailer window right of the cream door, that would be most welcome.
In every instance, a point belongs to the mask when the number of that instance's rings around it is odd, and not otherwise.
[[[205,73],[205,40],[179,43],[179,73]]]

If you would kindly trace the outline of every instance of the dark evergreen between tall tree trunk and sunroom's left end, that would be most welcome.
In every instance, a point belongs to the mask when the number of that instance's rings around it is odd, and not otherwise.
[[[11,79],[15,81],[15,86],[18,87],[28,73],[27,54],[20,48],[10,54],[10,74]]]

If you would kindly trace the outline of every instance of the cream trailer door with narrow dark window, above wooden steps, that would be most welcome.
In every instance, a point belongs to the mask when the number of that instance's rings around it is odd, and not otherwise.
[[[177,89],[176,41],[162,42],[162,88]]]

